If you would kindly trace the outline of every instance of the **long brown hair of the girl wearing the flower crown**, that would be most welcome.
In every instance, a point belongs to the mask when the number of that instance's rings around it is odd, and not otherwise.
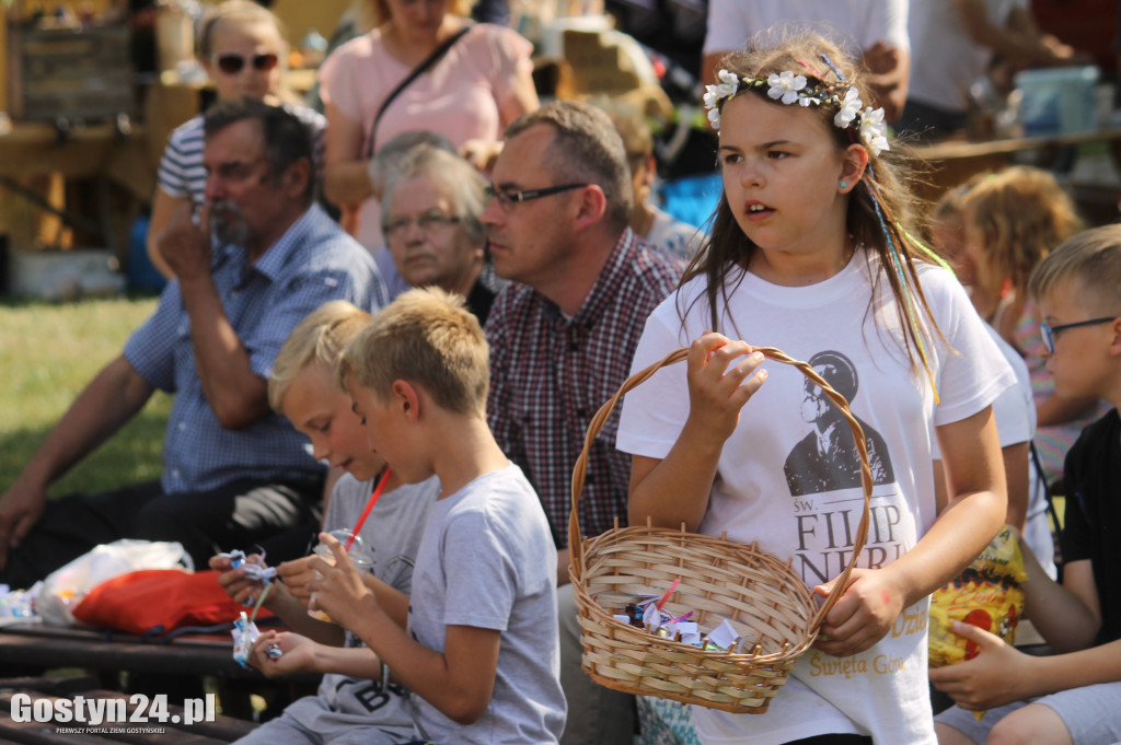
[[[768,39],[770,41],[771,39]],[[770,74],[795,71],[805,75],[807,86],[826,90],[843,96],[850,87],[855,87],[862,101],[870,101],[868,89],[860,80],[860,71],[836,46],[817,34],[799,31],[788,35],[777,44],[762,46],[762,37],[749,41],[743,52],[732,53],[721,60],[721,67],[740,77],[766,78]],[[843,80],[841,80],[843,76]],[[775,105],[784,105],[767,96],[767,87],[753,87],[739,95],[759,95]],[[834,125],[836,108],[831,105],[808,106],[812,115],[822,118],[831,132],[839,151],[853,143],[853,128]],[[908,296],[914,296],[916,314],[921,313],[933,333],[942,338],[942,332],[930,313],[926,296],[918,281],[916,264],[924,261],[926,253],[910,238],[916,234],[914,215],[917,202],[904,186],[908,169],[902,158],[890,150],[874,155],[868,151],[868,168],[851,192],[846,216],[847,230],[858,246],[879,255],[883,271],[876,278],[878,286],[887,279],[896,298],[899,320],[905,329],[904,341],[911,369],[917,370],[916,353],[924,348],[919,332],[907,317]],[[735,222],[726,194],[721,194],[716,211],[710,217],[710,238],[689,262],[682,285],[703,277],[706,280],[705,297],[712,320],[712,328],[720,328],[719,306],[726,307],[729,292],[739,285],[747,271],[751,255],[759,250]],[[895,270],[892,248],[898,251],[902,264],[901,278]],[[874,287],[873,287],[874,296]],[[871,300],[869,301],[871,308]],[[679,308],[684,317],[685,309]]]

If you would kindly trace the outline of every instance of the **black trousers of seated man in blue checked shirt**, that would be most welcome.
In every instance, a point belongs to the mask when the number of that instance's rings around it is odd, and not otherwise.
[[[270,565],[305,555],[319,528],[323,479],[244,478],[210,492],[164,494],[159,482],[47,503],[31,532],[8,555],[0,583],[30,587],[94,546],[121,538],[179,541],[205,569],[220,551],[265,550]]]

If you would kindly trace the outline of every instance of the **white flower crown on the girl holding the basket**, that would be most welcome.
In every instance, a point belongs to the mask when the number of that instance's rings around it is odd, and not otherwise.
[[[790,71],[762,78],[739,77],[735,73],[722,69],[716,76],[720,83],[706,85],[704,93],[704,105],[708,110],[708,121],[714,129],[720,129],[720,109],[725,102],[743,91],[767,85],[767,95],[787,105],[797,102],[802,106],[810,104],[835,106],[837,113],[833,117],[833,123],[841,129],[849,129],[853,122],[859,122],[860,139],[872,155],[878,156],[883,150],[891,149],[888,145],[888,125],[883,122],[883,109],[868,106],[861,111],[864,102],[860,100],[860,92],[855,87],[850,87],[842,97],[826,89],[807,87],[806,76],[796,75]]]

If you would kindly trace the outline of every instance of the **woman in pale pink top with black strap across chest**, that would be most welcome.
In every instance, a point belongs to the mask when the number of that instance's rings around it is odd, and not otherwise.
[[[506,125],[537,108],[532,45],[500,26],[471,26],[463,0],[377,0],[372,31],[334,52],[319,69],[327,137],[326,197],[343,211],[343,225],[370,249],[390,292],[402,289],[382,250],[380,194],[370,178],[373,151],[395,134],[427,129],[456,147],[497,143]],[[471,26],[441,59],[389,104],[386,97],[441,44]]]

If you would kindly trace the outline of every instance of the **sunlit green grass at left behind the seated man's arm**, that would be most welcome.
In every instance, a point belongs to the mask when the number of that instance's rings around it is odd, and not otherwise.
[[[155,298],[65,305],[0,302],[0,493],[16,479],[74,397],[120,354]],[[139,416],[50,488],[52,496],[158,478],[172,398],[157,392]]]

